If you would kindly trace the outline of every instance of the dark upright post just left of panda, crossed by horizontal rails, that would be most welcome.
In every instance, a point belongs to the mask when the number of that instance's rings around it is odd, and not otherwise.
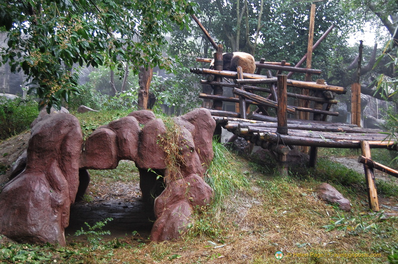
[[[214,69],[217,71],[222,71],[223,70],[223,45],[219,44],[218,45],[218,50],[214,54]],[[223,82],[223,77],[221,76],[216,76],[215,77],[216,82]],[[215,85],[213,87],[213,94],[214,95],[223,95],[223,86],[222,85]],[[213,101],[213,108],[216,110],[223,110],[223,101],[221,100],[214,100]],[[215,140],[217,140],[219,143],[221,143],[221,133],[222,133],[222,128],[221,125],[217,124],[216,129],[214,130],[213,137]]]

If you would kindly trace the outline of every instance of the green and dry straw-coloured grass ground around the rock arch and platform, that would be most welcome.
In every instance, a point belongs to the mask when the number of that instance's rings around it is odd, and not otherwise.
[[[87,137],[99,125],[128,113],[89,112],[76,116]],[[214,160],[205,180],[214,190],[214,200],[205,211],[195,213],[194,223],[182,240],[154,243],[134,233],[103,239],[98,233],[95,247],[84,240],[57,247],[19,244],[0,236],[0,263],[281,263],[274,253],[282,250],[282,261],[286,263],[370,264],[387,262],[389,255],[398,252],[398,221],[386,212],[369,211],[363,175],[320,158],[315,169],[291,167],[287,177],[280,177],[272,161],[247,160],[218,143],[213,144],[213,150]],[[356,151],[330,151],[320,155],[359,155]],[[380,155],[387,161],[383,153],[388,152],[380,150],[378,154],[378,150],[372,150],[374,159]],[[92,185],[139,182],[133,162],[121,161],[114,170],[89,172]],[[320,201],[315,190],[322,182],[330,183],[350,199],[352,211],[342,212],[336,205]],[[396,203],[395,184],[378,180],[376,184],[380,198]],[[103,230],[107,231],[107,226]],[[380,256],[353,260],[286,255],[311,252]]]

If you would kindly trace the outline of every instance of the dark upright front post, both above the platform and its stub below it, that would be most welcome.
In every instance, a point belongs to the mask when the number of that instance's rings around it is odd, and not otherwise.
[[[287,76],[277,76],[278,86],[278,108],[277,108],[277,123],[276,132],[279,134],[287,135]],[[279,174],[281,176],[287,176],[287,155],[278,154],[279,160]]]

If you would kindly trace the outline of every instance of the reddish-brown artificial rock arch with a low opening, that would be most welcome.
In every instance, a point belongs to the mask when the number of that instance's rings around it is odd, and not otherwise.
[[[213,197],[203,176],[213,159],[216,122],[205,108],[173,120],[182,131],[184,163],[180,176],[164,177],[162,185],[153,172],[168,176],[166,154],[157,143],[166,127],[151,111],[135,111],[98,127],[85,142],[71,114],[51,113],[34,122],[26,168],[0,193],[0,233],[20,242],[65,245],[70,205],[89,183],[86,169],[115,169],[120,160],[131,160],[140,172],[143,199],[157,196],[152,200],[156,221],[151,239],[180,237],[193,209]]]

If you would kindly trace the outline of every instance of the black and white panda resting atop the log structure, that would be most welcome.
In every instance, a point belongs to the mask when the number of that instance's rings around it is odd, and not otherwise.
[[[256,69],[254,57],[246,52],[223,53],[224,71],[236,71],[238,66],[242,67],[245,73],[253,74]],[[210,63],[210,69],[214,68],[214,59]]]

